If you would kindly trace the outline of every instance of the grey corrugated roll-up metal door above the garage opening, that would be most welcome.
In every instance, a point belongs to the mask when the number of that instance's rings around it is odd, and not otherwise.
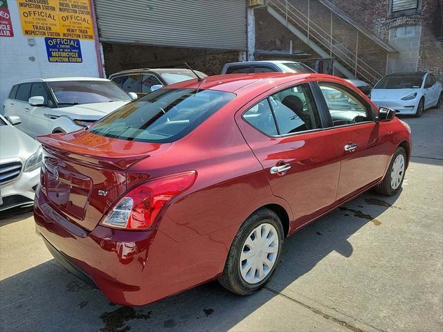
[[[94,0],[100,42],[246,49],[244,0]]]

